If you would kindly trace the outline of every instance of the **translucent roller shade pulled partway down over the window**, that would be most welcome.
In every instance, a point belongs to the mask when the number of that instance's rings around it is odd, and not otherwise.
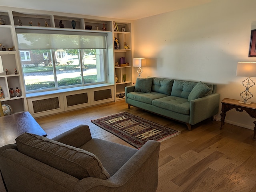
[[[41,33],[38,33],[41,32]],[[106,33],[16,30],[19,49],[106,49]]]

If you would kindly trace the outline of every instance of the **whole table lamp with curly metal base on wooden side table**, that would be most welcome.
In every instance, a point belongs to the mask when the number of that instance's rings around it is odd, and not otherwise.
[[[240,96],[244,99],[239,103],[252,104],[248,99],[253,97],[253,94],[249,91],[249,88],[255,85],[255,82],[251,77],[256,77],[256,62],[238,62],[236,67],[236,76],[246,76],[247,78],[242,81],[245,90],[240,93]]]

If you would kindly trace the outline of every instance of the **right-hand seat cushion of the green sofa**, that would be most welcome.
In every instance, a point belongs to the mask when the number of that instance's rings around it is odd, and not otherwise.
[[[179,114],[189,115],[190,102],[186,98],[167,96],[152,101],[152,105]]]

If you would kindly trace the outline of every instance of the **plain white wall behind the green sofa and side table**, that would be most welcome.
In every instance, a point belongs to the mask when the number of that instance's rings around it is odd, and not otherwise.
[[[236,64],[256,61],[248,57],[251,29],[256,29],[255,7],[256,0],[214,0],[134,21],[134,57],[147,59],[142,76],[217,84],[220,111],[223,98],[240,100],[245,77],[236,77]],[[256,86],[250,91],[256,102]],[[253,129],[255,119],[246,112],[233,109],[226,114],[226,122]]]

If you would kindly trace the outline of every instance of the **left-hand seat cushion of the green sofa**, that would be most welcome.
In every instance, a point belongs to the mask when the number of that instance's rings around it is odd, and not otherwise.
[[[166,97],[168,95],[157,93],[157,92],[150,92],[150,93],[144,93],[144,92],[130,92],[126,94],[127,98],[130,98],[132,100],[136,100],[143,103],[152,104],[152,101],[154,99],[159,99],[162,97]]]

